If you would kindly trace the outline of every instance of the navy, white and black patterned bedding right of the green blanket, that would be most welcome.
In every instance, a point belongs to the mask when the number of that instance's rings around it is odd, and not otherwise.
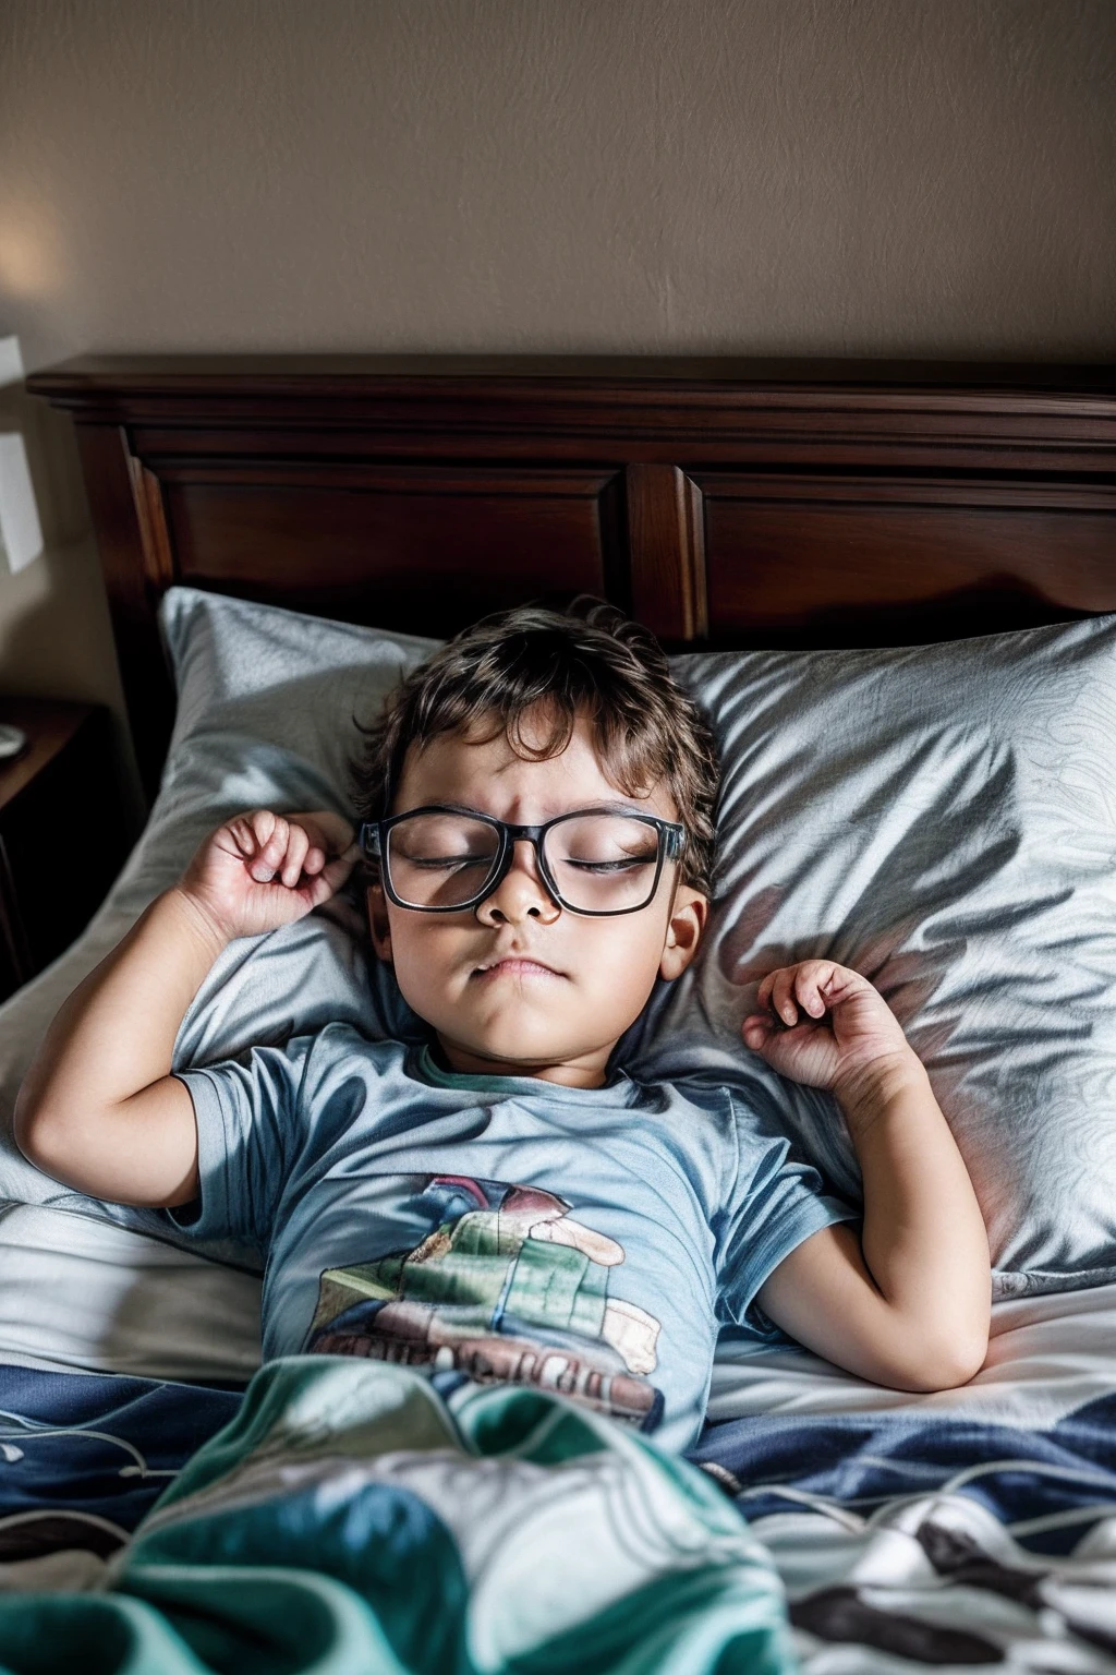
[[[696,1457],[771,1553],[805,1675],[1116,1670],[1116,1397],[1047,1429],[751,1415]]]

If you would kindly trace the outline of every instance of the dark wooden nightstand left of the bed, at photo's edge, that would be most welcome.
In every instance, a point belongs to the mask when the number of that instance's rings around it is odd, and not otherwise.
[[[127,854],[109,712],[0,697],[27,749],[0,760],[0,1000],[42,972],[100,906]]]

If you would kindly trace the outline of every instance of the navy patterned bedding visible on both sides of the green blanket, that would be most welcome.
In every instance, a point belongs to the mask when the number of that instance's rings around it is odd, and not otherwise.
[[[0,1563],[109,1558],[239,1404],[0,1367]],[[1046,1429],[927,1409],[755,1415],[709,1425],[691,1459],[771,1551],[806,1675],[835,1645],[863,1675],[1037,1668],[1016,1660],[1051,1640],[1074,1668],[1116,1670],[1116,1395]]]

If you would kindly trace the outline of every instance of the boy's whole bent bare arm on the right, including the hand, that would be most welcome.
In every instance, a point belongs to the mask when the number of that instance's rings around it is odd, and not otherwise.
[[[771,972],[745,1042],[780,1074],[837,1094],[863,1176],[860,1238],[823,1228],[760,1288],[808,1348],[907,1390],[965,1384],[987,1353],[989,1241],[930,1079],[867,978],[828,960]]]

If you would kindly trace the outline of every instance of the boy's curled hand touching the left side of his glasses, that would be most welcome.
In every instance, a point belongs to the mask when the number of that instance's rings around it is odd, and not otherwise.
[[[333,896],[358,856],[340,814],[253,809],[218,826],[199,846],[179,891],[226,941],[301,920]]]

